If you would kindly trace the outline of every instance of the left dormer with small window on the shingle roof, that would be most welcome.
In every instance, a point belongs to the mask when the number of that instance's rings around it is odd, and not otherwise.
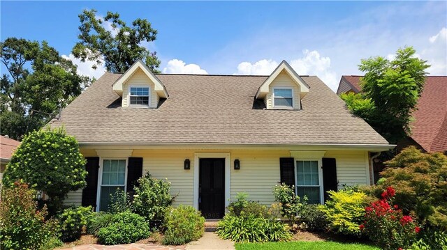
[[[122,107],[156,108],[168,92],[154,73],[141,60],[115,81],[113,91],[122,97]]]

